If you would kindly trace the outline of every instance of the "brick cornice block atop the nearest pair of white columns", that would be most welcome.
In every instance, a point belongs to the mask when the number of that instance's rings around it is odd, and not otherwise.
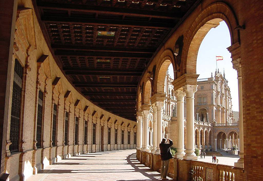
[[[181,77],[172,82],[174,90],[177,90],[185,85],[197,85],[198,77],[198,74],[183,74]]]

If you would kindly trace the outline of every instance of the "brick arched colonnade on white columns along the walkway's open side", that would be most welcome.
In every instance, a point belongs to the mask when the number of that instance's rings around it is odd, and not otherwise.
[[[195,14],[195,13],[193,13]],[[237,70],[239,84],[239,137],[240,137],[240,159],[236,166],[244,165],[243,149],[243,112],[242,112],[242,77],[239,32],[235,27],[239,25],[235,13],[231,7],[223,2],[206,4],[201,12],[196,12],[194,18],[189,18],[188,23],[182,23],[176,28],[166,42],[160,46],[151,62],[144,71],[137,92],[137,122],[138,141],[137,149],[149,151],[149,141],[144,132],[148,130],[149,110],[153,107],[153,149],[152,153],[160,154],[159,143],[162,140],[162,107],[165,99],[164,77],[170,64],[174,70],[174,94],[177,98],[177,122],[178,140],[176,158],[197,159],[195,150],[195,130],[194,130],[194,94],[197,91],[197,81],[199,75],[196,74],[197,53],[202,40],[211,28],[217,27],[219,22],[225,21],[231,36],[231,46],[228,50],[231,53],[233,68]],[[186,149],[184,148],[184,124],[183,103],[186,101],[187,109],[187,137]],[[205,115],[204,115],[205,119]],[[146,123],[146,124],[145,124]],[[144,125],[144,126],[142,126]],[[202,142],[208,141],[205,135],[209,135],[207,130],[201,130]],[[207,134],[205,134],[207,133]],[[206,141],[205,141],[206,139]],[[216,141],[215,141],[215,144]],[[156,148],[156,149],[155,149]]]

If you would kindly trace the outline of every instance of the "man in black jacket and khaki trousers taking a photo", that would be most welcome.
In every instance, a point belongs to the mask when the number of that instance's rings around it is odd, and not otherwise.
[[[168,143],[167,143],[168,142]],[[170,139],[163,138],[162,142],[160,143],[160,151],[161,151],[161,160],[162,160],[162,165],[161,165],[161,179],[162,180],[168,180],[166,178],[168,167],[169,167],[169,160],[172,157],[171,149],[170,147],[173,145],[173,141]]]

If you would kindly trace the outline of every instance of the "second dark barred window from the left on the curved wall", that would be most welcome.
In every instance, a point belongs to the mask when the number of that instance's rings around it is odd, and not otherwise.
[[[38,105],[37,105],[37,148],[41,147],[42,142],[42,119],[43,119],[43,98],[44,93],[38,91]]]

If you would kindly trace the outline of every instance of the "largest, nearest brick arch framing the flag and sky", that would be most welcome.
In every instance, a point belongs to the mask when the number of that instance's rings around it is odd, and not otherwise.
[[[192,22],[185,38],[182,53],[182,74],[196,74],[196,58],[202,40],[212,27],[225,21],[231,37],[231,45],[238,42],[238,32],[234,28],[239,24],[231,7],[223,2],[216,2],[206,7]],[[227,47],[226,47],[227,48]]]

